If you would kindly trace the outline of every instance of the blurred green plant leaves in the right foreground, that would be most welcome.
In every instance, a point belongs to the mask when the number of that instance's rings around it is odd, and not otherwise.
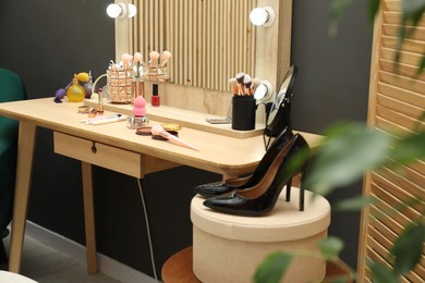
[[[333,0],[330,4],[329,34],[338,33],[338,25],[353,0]],[[371,26],[379,12],[381,0],[368,1],[368,19]],[[425,0],[402,0],[402,26],[399,32],[399,46],[396,52],[396,63],[400,60],[400,50],[404,40],[414,33],[425,12]],[[417,65],[417,74],[425,69],[425,50]],[[362,179],[372,170],[397,168],[400,164],[414,162],[425,158],[425,128],[423,121],[425,111],[420,116],[415,131],[409,134],[393,133],[390,130],[378,131],[368,128],[359,123],[339,123],[324,133],[324,140],[315,150],[309,174],[305,186],[314,188],[319,195],[328,195],[335,189]],[[301,162],[298,160],[298,162]],[[314,184],[314,186],[312,186]],[[333,209],[356,210],[377,201],[371,196],[353,197],[337,204]],[[414,202],[423,204],[423,199],[406,200],[403,206],[392,207],[401,211]],[[399,276],[412,270],[421,260],[425,242],[424,212],[418,219],[412,219],[400,236],[394,241],[390,250],[392,268],[377,261],[368,262],[374,282],[399,282]],[[390,217],[393,212],[382,213],[379,217]],[[339,253],[343,242],[329,236],[319,243],[321,257],[326,260],[339,262]],[[254,282],[280,282],[284,271],[289,268],[295,255],[289,253],[275,253],[269,256],[256,270]],[[331,282],[344,282],[335,279]]]

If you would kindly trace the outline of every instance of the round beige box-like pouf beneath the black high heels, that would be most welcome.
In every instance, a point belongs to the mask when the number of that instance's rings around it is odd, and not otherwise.
[[[305,210],[299,211],[299,188],[291,201],[283,193],[274,210],[264,217],[220,213],[203,206],[195,196],[191,204],[193,223],[193,271],[202,282],[252,282],[258,264],[270,254],[284,250],[317,253],[327,237],[330,206],[321,196],[305,192]],[[283,282],[318,282],[325,278],[326,262],[299,256]]]

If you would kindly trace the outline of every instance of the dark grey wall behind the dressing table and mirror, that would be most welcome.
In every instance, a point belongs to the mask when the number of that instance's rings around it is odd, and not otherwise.
[[[76,72],[92,70],[98,76],[114,58],[113,21],[105,13],[109,2],[0,1],[0,66],[23,77],[29,98],[52,97]],[[339,120],[366,119],[371,33],[365,4],[357,2],[344,17],[340,36],[330,39],[329,1],[294,1],[292,61],[300,69],[295,128],[319,133]],[[28,218],[84,244],[80,172],[78,162],[52,152],[52,133],[39,131]],[[144,180],[157,271],[169,256],[192,244],[192,188],[219,177],[183,167]],[[98,250],[153,275],[136,181],[95,168],[94,183]],[[329,199],[360,192],[361,183]],[[345,239],[342,258],[355,267],[359,213],[333,213],[330,233]]]

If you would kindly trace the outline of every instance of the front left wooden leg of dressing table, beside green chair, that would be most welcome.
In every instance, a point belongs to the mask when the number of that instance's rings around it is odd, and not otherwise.
[[[36,125],[26,122],[20,123],[16,183],[9,258],[9,271],[15,273],[19,273],[21,270],[22,247],[25,236],[25,221],[28,208],[36,132]]]

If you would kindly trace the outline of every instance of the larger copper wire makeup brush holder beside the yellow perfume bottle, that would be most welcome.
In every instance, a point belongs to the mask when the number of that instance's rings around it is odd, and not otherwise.
[[[131,103],[133,101],[132,82],[135,74],[133,70],[108,70],[108,101],[111,103]]]

